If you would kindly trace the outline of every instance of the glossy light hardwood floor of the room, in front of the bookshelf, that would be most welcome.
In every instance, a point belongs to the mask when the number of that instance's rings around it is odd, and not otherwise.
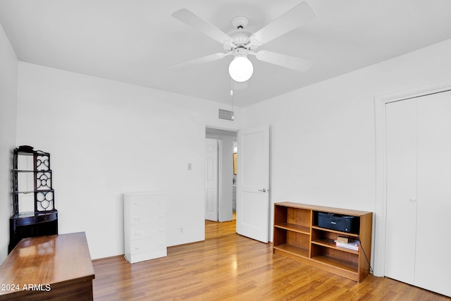
[[[147,262],[93,265],[95,300],[450,300],[390,278],[356,283],[236,233],[168,247],[168,257]]]

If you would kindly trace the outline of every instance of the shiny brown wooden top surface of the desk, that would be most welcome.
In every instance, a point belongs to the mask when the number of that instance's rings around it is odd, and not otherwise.
[[[94,268],[85,232],[24,238],[0,266],[0,285],[5,286],[0,287],[0,296],[14,293],[11,285],[18,285],[19,290],[30,284],[53,288],[92,279]]]

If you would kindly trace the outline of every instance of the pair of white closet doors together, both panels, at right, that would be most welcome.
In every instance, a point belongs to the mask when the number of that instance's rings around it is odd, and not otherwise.
[[[451,92],[387,104],[385,276],[451,296]]]

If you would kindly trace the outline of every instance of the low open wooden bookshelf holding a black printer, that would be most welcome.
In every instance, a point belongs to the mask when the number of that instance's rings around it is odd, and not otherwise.
[[[354,216],[352,233],[318,226],[319,212]],[[373,213],[293,202],[274,204],[273,253],[361,282],[370,273]],[[359,240],[359,250],[338,247],[338,236]]]

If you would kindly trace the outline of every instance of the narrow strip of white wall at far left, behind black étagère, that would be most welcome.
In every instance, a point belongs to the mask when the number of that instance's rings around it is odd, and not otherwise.
[[[11,168],[16,147],[16,53],[0,25],[0,264],[8,255],[9,218],[13,213]]]

